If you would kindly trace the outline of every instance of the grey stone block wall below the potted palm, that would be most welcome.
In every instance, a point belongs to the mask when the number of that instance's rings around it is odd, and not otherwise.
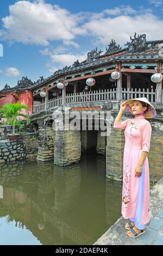
[[[22,160],[26,158],[26,145],[24,141],[0,141],[0,163]]]

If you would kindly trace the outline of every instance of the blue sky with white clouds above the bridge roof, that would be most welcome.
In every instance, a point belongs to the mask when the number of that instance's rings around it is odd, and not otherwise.
[[[161,40],[163,1],[0,1],[0,89],[27,76],[36,81],[130,35]],[[1,54],[1,53],[0,53]]]

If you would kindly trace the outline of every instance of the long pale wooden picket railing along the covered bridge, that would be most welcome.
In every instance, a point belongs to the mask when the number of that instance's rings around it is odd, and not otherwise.
[[[130,90],[124,88],[121,89],[121,100],[134,99],[136,97],[146,97],[151,103],[156,103],[156,91],[151,89],[133,89]],[[62,96],[55,97],[53,99],[47,100],[43,103],[38,103],[33,105],[33,113],[40,112],[49,108],[53,108],[59,105],[82,103],[82,102],[104,102],[104,101],[114,101],[117,100],[117,89],[105,89],[105,90],[94,90],[86,93],[71,93],[66,94],[65,102]],[[161,91],[161,102],[163,104],[163,90]]]

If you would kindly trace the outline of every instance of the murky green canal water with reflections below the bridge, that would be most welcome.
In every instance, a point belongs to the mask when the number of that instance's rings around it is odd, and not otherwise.
[[[68,167],[1,164],[0,185],[0,245],[92,245],[121,216],[122,185],[105,180],[105,161],[95,154]],[[9,224],[21,237],[9,239]]]

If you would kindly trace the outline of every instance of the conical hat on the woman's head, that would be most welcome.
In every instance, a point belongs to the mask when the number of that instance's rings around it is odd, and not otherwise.
[[[146,97],[140,97],[140,98],[127,100],[126,101],[126,108],[128,109],[128,111],[130,113],[133,114],[133,111],[131,110],[131,107],[132,107],[132,103],[133,103],[134,100],[143,101],[143,102],[146,102],[148,104],[149,109],[147,111],[145,111],[145,113],[143,114],[145,118],[156,118],[156,110],[153,107],[153,105],[148,101],[148,99]]]

